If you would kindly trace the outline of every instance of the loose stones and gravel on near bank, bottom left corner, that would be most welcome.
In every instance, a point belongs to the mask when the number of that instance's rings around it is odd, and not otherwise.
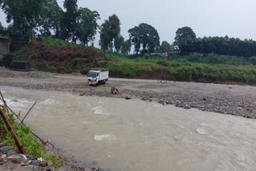
[[[63,161],[61,168],[55,168],[51,161],[44,161],[42,158],[34,158],[22,153],[18,153],[16,149],[0,142],[0,170],[2,171],[104,171],[106,169],[98,168],[94,161],[86,163],[85,161],[74,160],[68,153],[61,149],[55,149],[54,145],[44,145],[47,153],[55,153]]]

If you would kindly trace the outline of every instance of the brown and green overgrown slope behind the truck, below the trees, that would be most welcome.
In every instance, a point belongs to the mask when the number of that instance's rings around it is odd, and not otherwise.
[[[114,54],[93,47],[75,46],[54,38],[41,38],[15,54],[14,60],[30,63],[30,70],[58,73],[81,72],[107,67],[110,77],[161,79],[166,66],[168,80],[186,82],[242,82],[256,84],[256,58],[177,56],[141,57]],[[56,46],[62,45],[62,46]]]

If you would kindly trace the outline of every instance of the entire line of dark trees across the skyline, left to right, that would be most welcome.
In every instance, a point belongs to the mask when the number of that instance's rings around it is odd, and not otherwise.
[[[86,7],[78,8],[78,0],[63,0],[63,9],[56,0],[0,0],[0,7],[6,14],[4,28],[15,34],[26,34],[30,38],[47,36],[62,39],[83,46],[94,46],[95,35],[100,34],[99,46],[118,54],[150,54],[180,50],[182,54],[226,54],[251,57],[256,55],[256,42],[238,38],[197,38],[190,27],[179,28],[175,42],[160,43],[158,30],[147,23],[140,23],[128,30],[127,40],[121,35],[121,21],[116,14],[98,25],[100,14]],[[132,48],[133,47],[133,48]]]

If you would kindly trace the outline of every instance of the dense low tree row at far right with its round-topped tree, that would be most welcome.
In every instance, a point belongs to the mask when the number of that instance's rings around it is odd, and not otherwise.
[[[190,27],[177,30],[174,44],[178,46],[182,54],[197,52],[243,57],[256,55],[256,42],[253,40],[241,40],[227,36],[196,38],[196,34]]]

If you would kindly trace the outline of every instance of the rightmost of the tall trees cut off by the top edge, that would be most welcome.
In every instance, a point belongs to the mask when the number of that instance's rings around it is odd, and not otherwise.
[[[78,18],[78,0],[65,0],[64,8],[66,12],[63,18],[63,24],[65,26],[66,36],[70,38],[72,42],[76,43],[76,26]]]

